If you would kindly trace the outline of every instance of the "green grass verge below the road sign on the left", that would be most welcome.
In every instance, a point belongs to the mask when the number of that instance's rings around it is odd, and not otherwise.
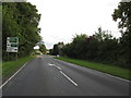
[[[33,58],[34,57],[31,56],[31,57],[21,58],[17,61],[2,62],[2,77],[5,78],[10,76]]]

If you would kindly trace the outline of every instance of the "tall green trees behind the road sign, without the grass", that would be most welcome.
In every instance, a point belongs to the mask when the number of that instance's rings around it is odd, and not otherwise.
[[[29,2],[2,3],[2,57],[7,60],[7,37],[19,37],[19,57],[26,57],[41,40],[40,14]]]

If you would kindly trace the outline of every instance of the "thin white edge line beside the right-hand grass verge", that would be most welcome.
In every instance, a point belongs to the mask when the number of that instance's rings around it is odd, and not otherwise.
[[[55,60],[58,60],[58,59],[55,59]],[[61,61],[61,60],[58,60],[58,61]],[[66,61],[62,61],[62,62],[66,62]],[[70,62],[67,62],[67,63],[73,64],[73,63],[70,63]],[[86,68],[86,69],[90,69],[90,68]],[[93,69],[90,69],[90,70],[93,70]],[[93,70],[93,71],[97,71],[97,70]],[[105,75],[107,75],[107,76],[114,77],[114,78],[118,78],[118,79],[121,79],[121,81],[131,83],[131,81],[126,79],[126,78],[122,78],[122,77],[119,77],[119,76],[115,76],[115,75],[111,75],[111,74],[108,74],[108,73],[104,73],[104,72],[100,72],[100,71],[97,71],[97,72],[99,72],[99,73],[102,73],[102,74],[105,74]]]

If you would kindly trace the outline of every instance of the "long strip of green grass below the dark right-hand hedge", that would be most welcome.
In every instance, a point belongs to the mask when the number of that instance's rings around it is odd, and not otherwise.
[[[74,63],[78,65],[82,65],[82,66],[85,66],[88,69],[97,70],[100,72],[105,72],[105,73],[108,73],[108,74],[111,74],[115,76],[119,76],[122,78],[131,79],[131,76],[129,76],[129,73],[131,74],[131,70],[128,70],[128,69],[123,69],[123,68],[119,68],[119,66],[115,66],[115,65],[109,65],[109,64],[88,62],[88,61],[84,61],[84,60],[63,58],[63,57],[59,57],[56,59],[67,61],[70,63]]]

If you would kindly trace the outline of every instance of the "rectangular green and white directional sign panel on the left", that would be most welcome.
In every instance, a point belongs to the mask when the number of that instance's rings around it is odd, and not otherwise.
[[[7,52],[17,52],[19,50],[19,38],[8,37],[7,38]]]

